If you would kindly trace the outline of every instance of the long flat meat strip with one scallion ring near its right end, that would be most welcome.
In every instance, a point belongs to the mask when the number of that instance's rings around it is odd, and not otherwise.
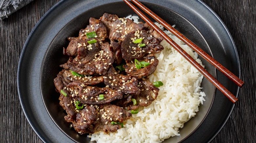
[[[108,87],[84,86],[79,82],[72,82],[68,85],[70,95],[83,104],[105,104],[123,97],[122,92]],[[104,99],[99,99],[103,94]]]

